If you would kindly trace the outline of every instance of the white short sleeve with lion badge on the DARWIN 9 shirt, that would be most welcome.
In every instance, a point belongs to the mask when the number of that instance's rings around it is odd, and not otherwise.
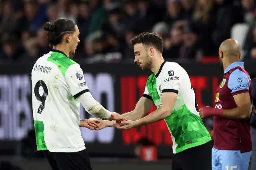
[[[74,98],[78,98],[80,95],[89,92],[88,86],[84,81],[83,70],[79,64],[73,64],[68,68],[65,73],[65,79],[68,90]]]

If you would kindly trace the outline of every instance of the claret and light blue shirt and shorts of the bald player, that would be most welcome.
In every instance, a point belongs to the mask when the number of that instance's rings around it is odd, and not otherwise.
[[[236,108],[234,96],[248,93],[252,101],[252,86],[243,62],[234,62],[224,70],[216,90],[215,108]],[[228,119],[214,116],[213,170],[248,169],[252,151],[250,119]]]

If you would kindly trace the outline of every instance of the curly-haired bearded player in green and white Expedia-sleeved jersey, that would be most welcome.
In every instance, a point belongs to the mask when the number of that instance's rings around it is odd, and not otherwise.
[[[212,142],[199,116],[195,93],[187,72],[162,56],[163,40],[156,33],[141,33],[131,40],[136,62],[150,69],[145,92],[135,109],[122,114],[128,121],[116,124],[130,129],[165,120],[173,140],[173,153],[183,170],[211,170]],[[142,118],[156,105],[157,110]],[[110,125],[109,125],[110,126]]]

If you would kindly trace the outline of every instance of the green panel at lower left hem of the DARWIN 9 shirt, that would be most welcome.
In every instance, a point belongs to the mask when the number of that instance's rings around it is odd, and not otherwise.
[[[47,150],[47,146],[44,141],[44,122],[34,120],[34,126],[36,131],[37,150]]]

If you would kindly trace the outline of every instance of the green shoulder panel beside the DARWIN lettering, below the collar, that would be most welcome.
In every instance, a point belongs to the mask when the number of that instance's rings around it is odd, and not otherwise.
[[[70,58],[67,58],[64,54],[59,52],[52,52],[51,56],[48,57],[47,61],[56,64],[64,77],[69,66],[71,66],[72,64],[77,64],[76,62],[74,62]]]

